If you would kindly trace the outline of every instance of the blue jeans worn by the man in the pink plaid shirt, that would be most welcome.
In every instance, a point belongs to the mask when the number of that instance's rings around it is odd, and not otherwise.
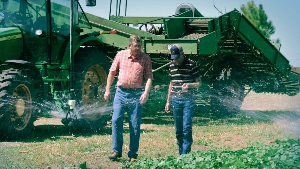
[[[113,115],[112,115],[112,149],[114,152],[122,154],[123,151],[123,118],[124,112],[128,113],[130,145],[128,156],[137,157],[139,148],[139,135],[142,105],[140,96],[142,89],[126,90],[118,87],[114,96]]]

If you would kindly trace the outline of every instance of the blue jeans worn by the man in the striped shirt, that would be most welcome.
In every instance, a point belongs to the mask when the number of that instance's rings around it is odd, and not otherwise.
[[[191,151],[191,126],[193,109],[195,107],[195,97],[193,95],[185,95],[184,97],[172,95],[172,105],[179,154],[186,154]]]

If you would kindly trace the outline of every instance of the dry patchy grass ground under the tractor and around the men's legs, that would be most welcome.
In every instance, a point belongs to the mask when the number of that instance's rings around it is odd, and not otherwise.
[[[196,113],[192,150],[237,150],[274,144],[276,139],[297,139],[299,114],[290,111],[242,111],[235,117]],[[111,125],[100,133],[69,133],[60,119],[41,118],[31,135],[19,142],[0,142],[0,168],[119,168],[128,164],[128,124],[124,127],[123,157],[112,162]],[[177,157],[175,128],[171,114],[143,114],[139,159]]]

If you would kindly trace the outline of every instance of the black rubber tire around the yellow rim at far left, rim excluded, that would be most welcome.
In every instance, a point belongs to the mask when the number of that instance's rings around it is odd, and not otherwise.
[[[39,103],[39,98],[41,92],[37,87],[36,81],[31,78],[30,73],[24,73],[24,71],[19,69],[7,69],[3,70],[0,74],[0,114],[3,114],[3,118],[1,119],[1,129],[0,129],[0,139],[5,140],[18,140],[22,139],[30,133],[33,128],[33,123],[36,120],[36,111],[37,105],[35,103]],[[31,98],[32,98],[32,112],[31,117],[27,126],[23,130],[16,130],[11,121],[10,114],[6,112],[8,110],[9,103],[11,102],[10,96],[13,94],[15,88],[24,84],[29,88]],[[4,126],[4,127],[3,127]]]

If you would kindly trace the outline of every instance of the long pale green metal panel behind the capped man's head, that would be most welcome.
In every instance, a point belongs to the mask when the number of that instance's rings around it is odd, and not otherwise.
[[[165,39],[165,40],[145,40],[145,53],[148,54],[169,54],[170,48],[174,44],[180,44],[184,48],[185,54],[198,54],[197,39]]]

